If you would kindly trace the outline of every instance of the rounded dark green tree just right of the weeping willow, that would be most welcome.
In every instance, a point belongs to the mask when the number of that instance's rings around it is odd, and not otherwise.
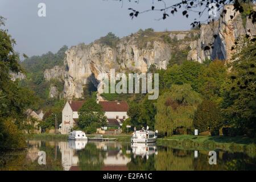
[[[218,135],[223,124],[221,110],[218,105],[209,100],[204,100],[195,111],[193,126],[199,132],[210,130],[211,135]]]

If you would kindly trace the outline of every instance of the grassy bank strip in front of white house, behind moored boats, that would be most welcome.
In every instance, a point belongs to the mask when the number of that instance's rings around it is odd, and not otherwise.
[[[35,139],[35,140],[67,140],[68,135],[55,135],[49,133],[42,134],[25,134],[26,139]],[[86,135],[87,137],[94,137],[95,135]],[[103,135],[104,138],[116,138],[118,142],[129,142],[131,135]]]

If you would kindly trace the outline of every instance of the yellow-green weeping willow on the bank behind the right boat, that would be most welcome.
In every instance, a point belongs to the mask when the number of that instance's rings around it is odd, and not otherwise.
[[[156,102],[155,129],[170,136],[178,127],[190,129],[201,98],[189,84],[172,85]]]

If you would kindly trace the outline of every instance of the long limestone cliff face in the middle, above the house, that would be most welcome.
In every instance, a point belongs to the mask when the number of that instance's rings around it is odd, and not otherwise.
[[[100,73],[136,71],[147,72],[150,65],[166,69],[171,59],[170,45],[156,40],[148,42],[146,47],[139,48],[133,36],[122,38],[117,46],[102,45],[94,42],[80,44],[66,51],[64,60],[64,97],[81,98],[83,86],[92,81],[97,86]]]

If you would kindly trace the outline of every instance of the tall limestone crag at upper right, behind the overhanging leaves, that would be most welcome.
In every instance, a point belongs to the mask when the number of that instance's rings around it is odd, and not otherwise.
[[[197,48],[192,48],[188,54],[188,60],[200,63],[205,59],[230,60],[234,52],[232,47],[237,38],[246,33],[251,36],[256,35],[255,24],[251,19],[246,18],[244,27],[241,14],[234,10],[233,5],[224,6],[224,10],[226,13],[222,13],[218,21],[201,26]]]

